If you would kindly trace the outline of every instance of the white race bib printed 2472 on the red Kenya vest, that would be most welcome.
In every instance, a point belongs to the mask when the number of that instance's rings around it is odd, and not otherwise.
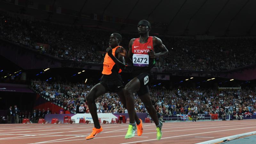
[[[148,66],[148,61],[148,54],[133,54],[132,56],[133,66],[146,67]]]

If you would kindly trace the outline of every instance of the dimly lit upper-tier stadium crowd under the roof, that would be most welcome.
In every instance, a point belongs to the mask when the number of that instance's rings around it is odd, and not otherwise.
[[[42,53],[67,60],[93,63],[103,62],[112,32],[85,29],[78,26],[53,24],[12,18],[4,13],[0,17],[0,37],[25,45]],[[128,48],[137,34],[122,33],[122,46]],[[222,71],[256,63],[255,39],[196,40],[157,36],[169,49],[169,55],[157,60],[156,67]]]

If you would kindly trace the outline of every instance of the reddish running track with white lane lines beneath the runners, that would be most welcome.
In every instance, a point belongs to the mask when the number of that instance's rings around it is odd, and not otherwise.
[[[0,124],[0,144],[32,143],[182,143],[194,144],[231,135],[253,132],[256,120],[171,122],[164,123],[163,137],[156,140],[156,126],[143,124],[143,134],[124,139],[128,124],[101,124],[103,132],[94,139],[85,140],[93,124]]]

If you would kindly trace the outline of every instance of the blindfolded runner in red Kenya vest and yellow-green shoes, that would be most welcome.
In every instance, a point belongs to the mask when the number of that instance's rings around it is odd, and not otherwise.
[[[149,115],[156,124],[157,140],[162,137],[162,122],[159,122],[156,114],[156,109],[153,107],[149,96],[148,84],[153,79],[152,68],[155,65],[155,58],[163,57],[168,54],[168,50],[157,37],[148,36],[151,30],[151,25],[147,20],[140,20],[138,23],[138,32],[140,37],[132,39],[129,43],[128,55],[124,58],[128,64],[133,67],[133,79],[124,87],[124,95],[127,103],[127,110],[130,117],[130,124],[126,133],[125,139],[132,138],[136,131],[134,121],[134,99],[133,92],[137,92],[140,100],[144,103]],[[155,53],[154,49],[159,49],[160,53]],[[122,49],[118,49],[122,52]]]

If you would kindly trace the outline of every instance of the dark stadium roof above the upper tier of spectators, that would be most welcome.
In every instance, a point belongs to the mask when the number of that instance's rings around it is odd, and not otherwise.
[[[255,0],[44,0],[38,3],[56,7],[60,13],[72,10],[82,17],[94,15],[92,19],[102,20],[104,27],[115,25],[107,21],[118,22],[119,27],[124,23],[121,28],[128,31],[131,28],[136,31],[134,21],[146,19],[152,23],[153,32],[159,34],[256,35]]]

